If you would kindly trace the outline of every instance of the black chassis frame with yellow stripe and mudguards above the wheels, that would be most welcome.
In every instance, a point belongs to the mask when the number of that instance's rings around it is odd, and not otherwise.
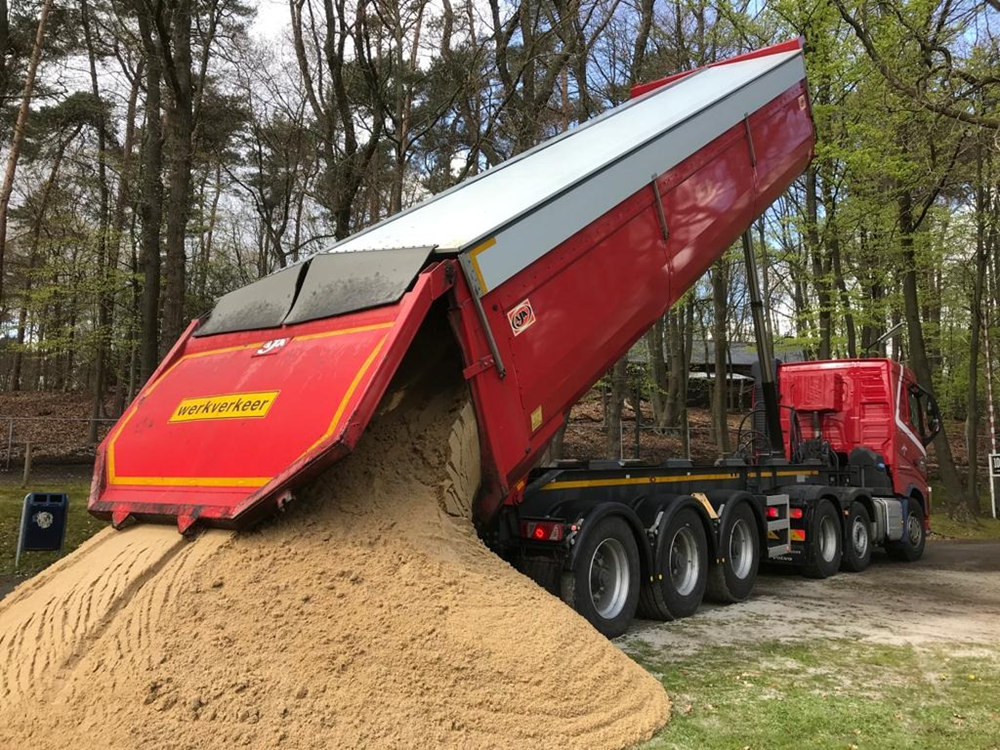
[[[803,510],[801,519],[790,520],[793,530],[808,529],[816,508],[824,501],[832,502],[841,516],[848,514],[852,503],[860,502],[874,518],[873,497],[897,496],[884,475],[879,477],[882,481],[872,482],[882,486],[857,485],[866,478],[856,468],[831,469],[815,462],[757,466],[742,461],[700,466],[686,461],[668,465],[631,460],[563,462],[556,468],[532,472],[523,500],[503,509],[487,541],[522,572],[558,595],[562,572],[572,570],[575,550],[601,518],[617,515],[628,522],[638,542],[643,580],[649,580],[657,532],[673,514],[685,507],[694,508],[705,526],[709,559],[719,560],[719,535],[726,517],[739,502],[747,502],[757,520],[761,559],[802,565],[812,553],[811,535],[806,533],[804,541],[769,540],[768,496],[788,495],[789,508]],[[897,499],[905,502],[905,498]],[[521,527],[526,521],[564,524],[565,536],[557,542],[525,538]],[[846,544],[850,532],[846,523],[841,526]],[[782,549],[769,554],[779,544]]]

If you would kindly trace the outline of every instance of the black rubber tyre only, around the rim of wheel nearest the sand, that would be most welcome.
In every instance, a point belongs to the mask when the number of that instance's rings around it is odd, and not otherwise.
[[[590,596],[590,561],[605,539],[617,539],[625,548],[629,566],[629,590],[625,606],[612,619],[602,617]],[[607,638],[622,635],[635,617],[639,604],[639,586],[642,575],[639,568],[639,548],[632,528],[619,516],[606,516],[590,529],[582,541],[574,561],[573,570],[562,575],[560,596],[564,602],[579,612],[591,625]]]

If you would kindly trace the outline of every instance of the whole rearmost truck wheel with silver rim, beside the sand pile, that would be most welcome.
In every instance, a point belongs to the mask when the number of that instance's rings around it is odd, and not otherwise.
[[[639,603],[639,548],[632,529],[609,516],[583,540],[573,570],[563,573],[562,600],[608,638],[628,628]]]

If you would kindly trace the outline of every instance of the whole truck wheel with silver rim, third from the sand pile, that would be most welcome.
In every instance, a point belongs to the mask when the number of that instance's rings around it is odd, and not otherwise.
[[[708,572],[708,598],[722,604],[750,596],[760,567],[760,535],[750,506],[741,502],[726,517],[719,535],[720,560]]]

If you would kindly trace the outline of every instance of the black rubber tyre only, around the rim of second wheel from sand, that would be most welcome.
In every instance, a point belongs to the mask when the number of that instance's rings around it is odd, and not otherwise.
[[[698,580],[690,594],[677,591],[670,576],[670,544],[677,532],[688,528],[694,535],[698,555]],[[655,620],[679,620],[698,611],[708,586],[708,537],[694,508],[681,508],[660,531],[653,565],[653,581],[643,581],[639,593],[639,612]]]

